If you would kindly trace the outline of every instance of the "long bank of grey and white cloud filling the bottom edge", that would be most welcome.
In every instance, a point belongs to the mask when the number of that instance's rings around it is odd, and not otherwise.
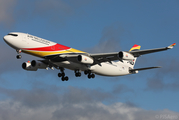
[[[0,101],[0,119],[158,120],[172,117],[177,120],[179,118],[179,113],[167,109],[144,110],[121,102],[106,105],[103,101],[110,96],[103,97],[106,94],[104,91],[95,94],[96,90],[84,88],[59,88],[52,91],[50,88],[54,86],[32,90],[1,88],[1,94],[6,94],[11,98]]]

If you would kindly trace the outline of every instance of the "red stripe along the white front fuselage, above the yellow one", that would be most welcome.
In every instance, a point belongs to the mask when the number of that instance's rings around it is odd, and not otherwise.
[[[67,50],[70,49],[70,47],[56,44],[48,47],[39,47],[39,48],[22,48],[24,50],[33,50],[33,51],[59,51],[59,50]]]

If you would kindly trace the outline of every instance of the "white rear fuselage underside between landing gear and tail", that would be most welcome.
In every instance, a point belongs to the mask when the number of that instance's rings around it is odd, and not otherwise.
[[[122,76],[129,74],[127,67],[122,67],[118,64],[101,63],[101,65],[95,65],[95,69],[92,70],[95,74],[103,76]]]

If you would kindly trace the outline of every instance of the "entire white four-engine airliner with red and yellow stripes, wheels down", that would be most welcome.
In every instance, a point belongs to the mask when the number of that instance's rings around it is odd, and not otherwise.
[[[43,58],[42,60],[24,62],[22,64],[23,69],[37,71],[38,69],[56,68],[61,71],[58,76],[61,77],[62,81],[68,81],[64,68],[74,70],[76,77],[80,77],[81,71],[84,71],[89,79],[94,78],[95,74],[122,76],[135,74],[140,70],[159,68],[134,69],[134,65],[137,57],[141,55],[171,49],[176,45],[174,43],[164,48],[140,50],[141,46],[135,44],[129,51],[89,54],[20,32],[9,33],[4,36],[4,41],[17,51],[17,59],[21,58],[21,52]]]

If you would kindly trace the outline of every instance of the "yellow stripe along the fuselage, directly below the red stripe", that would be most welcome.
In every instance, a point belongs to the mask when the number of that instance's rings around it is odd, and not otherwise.
[[[61,51],[33,51],[33,50],[23,50],[24,53],[34,55],[37,57],[45,57],[51,55],[65,54],[65,53],[86,53],[77,49],[70,48],[69,50],[61,50]]]

